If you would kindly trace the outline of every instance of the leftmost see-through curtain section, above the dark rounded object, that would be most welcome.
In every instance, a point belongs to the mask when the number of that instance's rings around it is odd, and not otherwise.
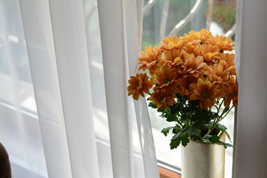
[[[12,177],[47,177],[18,1],[0,1],[0,141]]]

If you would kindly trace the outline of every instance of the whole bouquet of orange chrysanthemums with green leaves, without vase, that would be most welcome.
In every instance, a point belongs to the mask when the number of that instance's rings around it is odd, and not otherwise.
[[[190,140],[231,147],[220,140],[223,133],[229,137],[220,121],[238,105],[233,47],[231,38],[201,29],[141,51],[128,95],[138,100],[149,94],[149,106],[175,123],[162,129],[165,136],[174,133],[170,149]]]

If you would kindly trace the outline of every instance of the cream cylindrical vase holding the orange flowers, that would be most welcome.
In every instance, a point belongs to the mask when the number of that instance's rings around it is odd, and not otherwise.
[[[190,140],[181,146],[182,178],[224,178],[225,147]]]

